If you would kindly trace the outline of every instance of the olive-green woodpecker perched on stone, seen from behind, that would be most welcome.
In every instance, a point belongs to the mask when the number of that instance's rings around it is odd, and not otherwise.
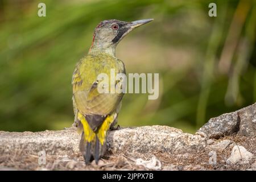
[[[89,164],[93,159],[98,164],[105,154],[106,137],[109,130],[115,129],[124,94],[98,92],[98,75],[105,73],[110,76],[111,69],[114,69],[115,74],[126,73],[125,64],[115,57],[115,48],[134,28],[152,20],[125,22],[110,19],[100,22],[94,30],[88,54],[76,64],[72,75],[72,101],[74,123],[81,135],[79,148],[85,164]],[[115,85],[122,84],[115,82]]]

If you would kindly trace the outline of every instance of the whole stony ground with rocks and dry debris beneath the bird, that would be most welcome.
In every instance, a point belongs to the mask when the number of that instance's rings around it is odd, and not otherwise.
[[[0,131],[0,170],[255,170],[255,106],[212,118],[195,135],[168,126],[110,131],[108,151],[98,165],[85,165],[75,126],[36,133]],[[217,156],[216,165],[209,163],[210,152]],[[39,164],[42,155],[46,164]]]

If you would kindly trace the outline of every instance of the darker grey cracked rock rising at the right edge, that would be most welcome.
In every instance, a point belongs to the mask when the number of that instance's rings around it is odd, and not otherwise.
[[[234,133],[256,135],[256,103],[233,113],[211,118],[196,134],[207,138],[220,138]]]

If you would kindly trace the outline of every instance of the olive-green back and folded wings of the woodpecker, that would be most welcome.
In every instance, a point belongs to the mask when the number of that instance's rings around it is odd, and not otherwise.
[[[115,74],[125,73],[123,64],[113,57],[86,57],[77,65],[72,78],[73,97],[82,114],[108,115],[118,106],[122,93],[98,93],[97,90],[98,74],[106,73],[110,77],[110,69],[115,69]]]

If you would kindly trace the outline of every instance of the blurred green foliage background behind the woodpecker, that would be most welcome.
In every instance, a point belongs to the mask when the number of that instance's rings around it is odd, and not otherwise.
[[[38,3],[46,3],[39,18]],[[217,17],[208,5],[217,4]],[[71,78],[101,20],[155,20],[117,47],[127,73],[159,73],[158,100],[126,94],[121,126],[193,133],[256,101],[255,1],[0,1],[0,130],[73,123]]]

